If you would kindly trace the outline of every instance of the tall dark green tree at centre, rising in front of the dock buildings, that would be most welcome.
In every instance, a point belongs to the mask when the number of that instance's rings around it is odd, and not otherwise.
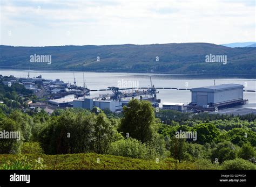
[[[154,108],[146,100],[132,99],[124,106],[124,117],[121,120],[119,131],[124,136],[136,138],[144,142],[151,141],[157,133],[157,122],[154,117]]]

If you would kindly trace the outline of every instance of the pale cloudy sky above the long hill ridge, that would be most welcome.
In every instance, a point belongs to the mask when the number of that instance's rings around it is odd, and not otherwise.
[[[1,0],[1,45],[255,41],[254,0]]]

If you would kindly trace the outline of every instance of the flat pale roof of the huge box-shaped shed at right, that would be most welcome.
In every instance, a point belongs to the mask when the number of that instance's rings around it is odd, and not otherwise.
[[[192,88],[191,91],[221,91],[221,90],[229,90],[229,89],[237,89],[237,88],[244,88],[242,84],[220,84],[220,85],[212,85],[209,87],[200,87],[200,88]]]

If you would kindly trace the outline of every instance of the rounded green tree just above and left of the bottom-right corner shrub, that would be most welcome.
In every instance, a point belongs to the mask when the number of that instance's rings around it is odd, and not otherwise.
[[[212,150],[212,162],[218,161],[223,163],[225,160],[235,159],[237,149],[230,141],[223,141],[218,143],[217,147]]]

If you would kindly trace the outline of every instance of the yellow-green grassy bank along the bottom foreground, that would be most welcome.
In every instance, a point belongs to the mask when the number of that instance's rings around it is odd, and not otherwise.
[[[21,155],[0,155],[0,165],[7,161],[16,163]],[[131,159],[123,156],[99,155],[95,153],[86,154],[66,154],[66,155],[45,155],[45,154],[23,154],[28,160],[43,159],[44,169],[175,169],[176,161],[174,159],[159,160],[141,160]],[[192,162],[180,162],[178,169],[196,169]],[[28,168],[30,169],[30,168]]]

